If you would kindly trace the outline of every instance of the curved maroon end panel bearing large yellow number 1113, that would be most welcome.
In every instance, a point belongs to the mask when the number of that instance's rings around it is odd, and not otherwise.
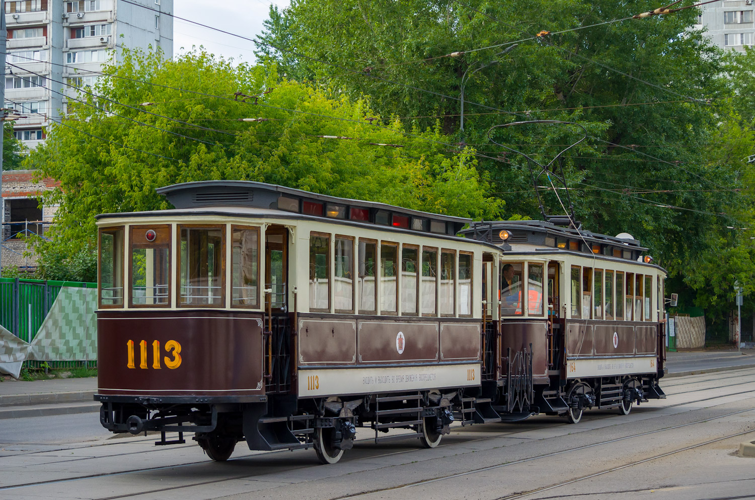
[[[254,313],[100,311],[98,394],[264,394],[262,326]]]

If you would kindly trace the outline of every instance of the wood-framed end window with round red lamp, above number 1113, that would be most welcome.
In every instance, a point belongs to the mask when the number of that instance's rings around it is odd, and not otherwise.
[[[170,305],[171,227],[131,227],[131,306]]]

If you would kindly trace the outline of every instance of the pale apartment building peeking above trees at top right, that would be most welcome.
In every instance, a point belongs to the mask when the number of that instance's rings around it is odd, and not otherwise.
[[[698,28],[706,28],[714,45],[726,50],[744,51],[755,43],[755,4],[753,0],[720,0],[701,7]]]

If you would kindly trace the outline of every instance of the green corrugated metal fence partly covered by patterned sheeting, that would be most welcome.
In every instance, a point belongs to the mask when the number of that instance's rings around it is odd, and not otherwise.
[[[96,289],[97,283],[0,278],[0,325],[5,326],[21,340],[31,343],[39,327],[42,326],[42,322],[45,321],[60,289],[64,286]],[[39,364],[35,361],[26,363],[30,366]],[[61,368],[82,365],[79,362],[60,362],[60,364]],[[91,362],[88,364],[92,365]]]

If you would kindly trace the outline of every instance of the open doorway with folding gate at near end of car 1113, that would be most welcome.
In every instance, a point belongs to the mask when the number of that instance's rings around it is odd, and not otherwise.
[[[288,230],[271,225],[265,231],[265,390],[291,389],[291,326],[288,319]]]

